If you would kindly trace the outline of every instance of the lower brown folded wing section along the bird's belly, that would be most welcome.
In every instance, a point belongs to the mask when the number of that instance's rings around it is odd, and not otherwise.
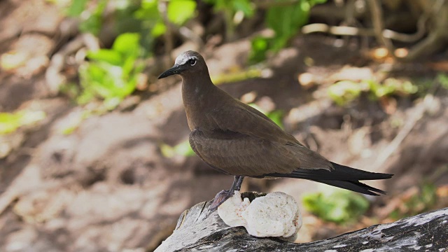
[[[289,174],[300,167],[291,146],[237,132],[193,130],[190,146],[211,167],[232,175]]]

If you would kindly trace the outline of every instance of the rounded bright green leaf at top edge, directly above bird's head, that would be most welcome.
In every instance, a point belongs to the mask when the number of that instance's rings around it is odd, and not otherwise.
[[[193,18],[195,10],[196,2],[193,0],[169,1],[167,9],[168,20],[176,25],[183,25],[184,22]]]

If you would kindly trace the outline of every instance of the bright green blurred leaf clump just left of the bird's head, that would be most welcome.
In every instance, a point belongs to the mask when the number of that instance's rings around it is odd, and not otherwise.
[[[139,38],[139,34],[121,34],[111,49],[87,52],[90,61],[79,67],[83,87],[79,104],[101,97],[106,108],[114,109],[134,92],[139,73],[144,69],[144,64],[137,60],[141,55]]]

